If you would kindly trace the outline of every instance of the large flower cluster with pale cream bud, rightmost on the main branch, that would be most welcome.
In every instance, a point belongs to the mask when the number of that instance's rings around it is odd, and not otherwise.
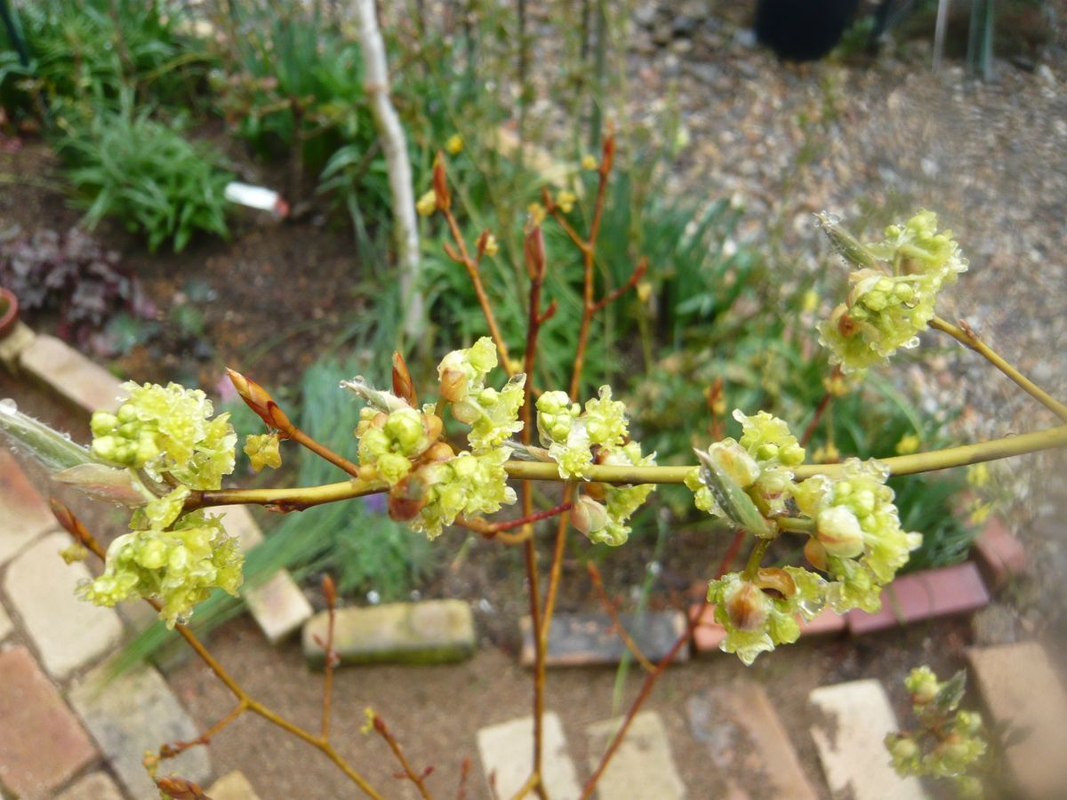
[[[805,553],[834,578],[828,598],[835,611],[876,611],[881,607],[881,587],[907,563],[908,554],[923,538],[901,528],[883,464],[848,459],[842,473],[832,480],[815,476],[794,489],[797,508],[815,522],[815,534]]]

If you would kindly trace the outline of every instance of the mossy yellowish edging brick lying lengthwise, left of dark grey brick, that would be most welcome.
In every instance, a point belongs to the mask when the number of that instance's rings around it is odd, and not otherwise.
[[[341,663],[448,663],[474,655],[471,606],[459,599],[387,603],[338,609],[334,651]],[[304,625],[304,658],[314,667],[325,660],[329,614],[321,611]]]

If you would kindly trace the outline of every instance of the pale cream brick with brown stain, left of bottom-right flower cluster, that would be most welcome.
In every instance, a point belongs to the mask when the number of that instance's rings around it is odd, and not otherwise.
[[[899,731],[882,685],[875,679],[824,686],[808,695],[823,719],[811,727],[833,797],[851,800],[920,800],[914,778],[889,763],[886,734]]]

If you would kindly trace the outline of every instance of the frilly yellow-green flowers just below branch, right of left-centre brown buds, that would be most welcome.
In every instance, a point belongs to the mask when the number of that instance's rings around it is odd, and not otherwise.
[[[459,514],[491,514],[516,499],[508,485],[504,463],[511,450],[499,447],[482,453],[461,452],[455,459],[428,464],[412,477],[412,494],[425,505],[412,519],[414,530],[436,539]]]

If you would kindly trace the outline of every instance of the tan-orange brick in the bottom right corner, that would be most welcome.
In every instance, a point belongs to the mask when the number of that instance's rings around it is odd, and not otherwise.
[[[1026,731],[1005,757],[1030,798],[1067,797],[1067,692],[1037,642],[972,649],[971,678],[997,724]]]

